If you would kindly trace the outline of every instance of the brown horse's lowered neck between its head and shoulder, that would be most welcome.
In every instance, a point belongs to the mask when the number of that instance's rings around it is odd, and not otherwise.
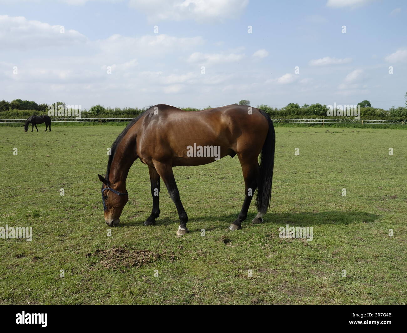
[[[127,135],[125,136],[127,137]],[[112,165],[110,166],[109,182],[117,185],[118,190],[126,189],[126,178],[129,174],[131,165],[136,161],[136,137],[125,139],[123,138],[118,146],[113,157]]]

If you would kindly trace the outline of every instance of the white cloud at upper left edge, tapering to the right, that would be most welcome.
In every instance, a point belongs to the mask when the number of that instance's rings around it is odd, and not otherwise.
[[[28,21],[23,16],[0,15],[0,44],[2,48],[32,49],[82,44],[87,38],[76,30],[61,33],[61,26]]]

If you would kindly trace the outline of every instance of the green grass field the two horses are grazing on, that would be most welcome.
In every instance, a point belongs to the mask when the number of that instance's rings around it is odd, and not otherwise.
[[[191,231],[179,237],[163,184],[157,225],[142,225],[140,161],[107,236],[96,174],[120,127],[38,128],[0,128],[0,226],[33,227],[31,242],[0,238],[0,304],[407,303],[407,130],[277,127],[271,208],[253,225],[252,204],[239,231],[227,229],[244,196],[236,157],[175,168]],[[286,224],[312,226],[313,241],[280,238]]]

